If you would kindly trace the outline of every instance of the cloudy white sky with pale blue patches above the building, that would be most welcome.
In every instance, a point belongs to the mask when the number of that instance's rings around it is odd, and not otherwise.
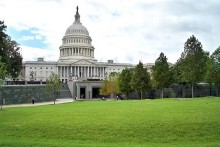
[[[23,61],[59,59],[76,6],[100,62],[175,63],[194,35],[212,53],[220,46],[220,0],[0,0],[0,20]]]

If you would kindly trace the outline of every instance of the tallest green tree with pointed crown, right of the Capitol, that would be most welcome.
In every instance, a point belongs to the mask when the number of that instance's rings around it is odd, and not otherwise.
[[[203,51],[201,42],[193,35],[188,38],[178,62],[181,65],[181,80],[192,85],[192,97],[194,85],[204,81],[207,59],[208,52]]]

